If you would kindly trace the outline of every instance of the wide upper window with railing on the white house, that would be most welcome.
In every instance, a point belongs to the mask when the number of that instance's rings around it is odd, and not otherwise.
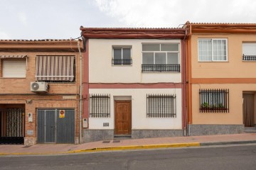
[[[180,72],[179,44],[142,44],[142,72]]]

